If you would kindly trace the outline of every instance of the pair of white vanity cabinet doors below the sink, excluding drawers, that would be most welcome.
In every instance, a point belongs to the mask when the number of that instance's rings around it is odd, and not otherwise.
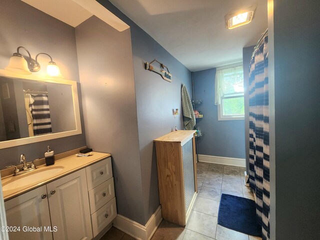
[[[10,240],[92,239],[85,169],[75,171],[46,185],[5,201]],[[23,226],[41,227],[23,231]],[[56,228],[55,228],[56,227]],[[56,230],[55,230],[56,229]]]

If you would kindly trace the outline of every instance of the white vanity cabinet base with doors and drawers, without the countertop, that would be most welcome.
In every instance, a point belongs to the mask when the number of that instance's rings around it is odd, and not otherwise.
[[[90,240],[116,216],[111,158],[6,200],[4,205],[7,225],[20,226],[20,231],[9,232],[10,240]],[[23,231],[23,226],[32,231]]]

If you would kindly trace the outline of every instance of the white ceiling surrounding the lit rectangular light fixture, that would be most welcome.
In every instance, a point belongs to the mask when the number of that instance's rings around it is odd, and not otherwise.
[[[267,0],[110,1],[191,71],[241,61],[267,28]],[[224,27],[225,14],[253,4],[252,22]]]

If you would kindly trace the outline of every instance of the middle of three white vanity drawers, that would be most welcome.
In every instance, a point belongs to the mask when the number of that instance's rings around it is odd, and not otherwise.
[[[89,190],[91,214],[114,197],[113,177]]]

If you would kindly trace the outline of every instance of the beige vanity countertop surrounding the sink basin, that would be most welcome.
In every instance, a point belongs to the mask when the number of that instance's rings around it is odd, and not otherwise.
[[[67,157],[55,160],[55,163],[53,165],[46,166],[44,164],[44,165],[37,166],[37,168],[35,170],[23,173],[21,175],[17,175],[17,176],[10,175],[10,176],[3,177],[3,178],[1,178],[2,186],[5,185],[6,183],[12,182],[16,179],[23,178],[24,176],[29,176],[29,175],[34,174],[36,172],[45,171],[46,169],[50,169],[50,168],[51,169],[62,168],[62,170],[60,170],[58,173],[56,173],[54,175],[49,175],[46,178],[41,178],[38,181],[31,182],[30,184],[27,184],[27,185],[24,185],[24,186],[21,186],[18,188],[3,191],[3,199],[4,200],[11,199],[17,195],[20,195],[20,194],[26,192],[26,191],[29,191],[31,189],[38,187],[38,186],[44,185],[50,181],[53,181],[53,180],[60,178],[60,177],[63,177],[71,172],[82,169],[86,166],[94,164],[95,162],[98,162],[98,161],[105,159],[107,157],[110,157],[110,156],[111,156],[111,154],[109,154],[109,153],[102,153],[102,152],[95,152],[95,151],[92,151],[92,155],[85,156],[85,157],[77,157],[75,154],[73,154],[71,156],[67,156]]]

